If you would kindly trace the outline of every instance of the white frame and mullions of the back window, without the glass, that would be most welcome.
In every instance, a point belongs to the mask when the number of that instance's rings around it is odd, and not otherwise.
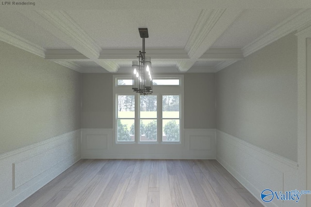
[[[182,144],[184,143],[184,75],[154,75],[154,79],[179,79],[179,85],[153,85],[154,93],[157,96],[157,140],[140,141],[140,99],[139,94],[133,92],[131,85],[118,85],[118,79],[132,79],[131,75],[113,75],[113,144]],[[135,95],[135,139],[133,141],[117,140],[117,96]],[[167,95],[179,95],[179,142],[162,141],[162,97]],[[139,133],[138,133],[139,132]]]

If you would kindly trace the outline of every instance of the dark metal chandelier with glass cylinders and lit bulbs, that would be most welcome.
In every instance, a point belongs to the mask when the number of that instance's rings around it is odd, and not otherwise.
[[[139,51],[138,61],[133,61],[133,91],[140,95],[152,94],[151,58],[146,56],[145,38],[148,38],[147,28],[138,28],[142,38],[142,51]]]

